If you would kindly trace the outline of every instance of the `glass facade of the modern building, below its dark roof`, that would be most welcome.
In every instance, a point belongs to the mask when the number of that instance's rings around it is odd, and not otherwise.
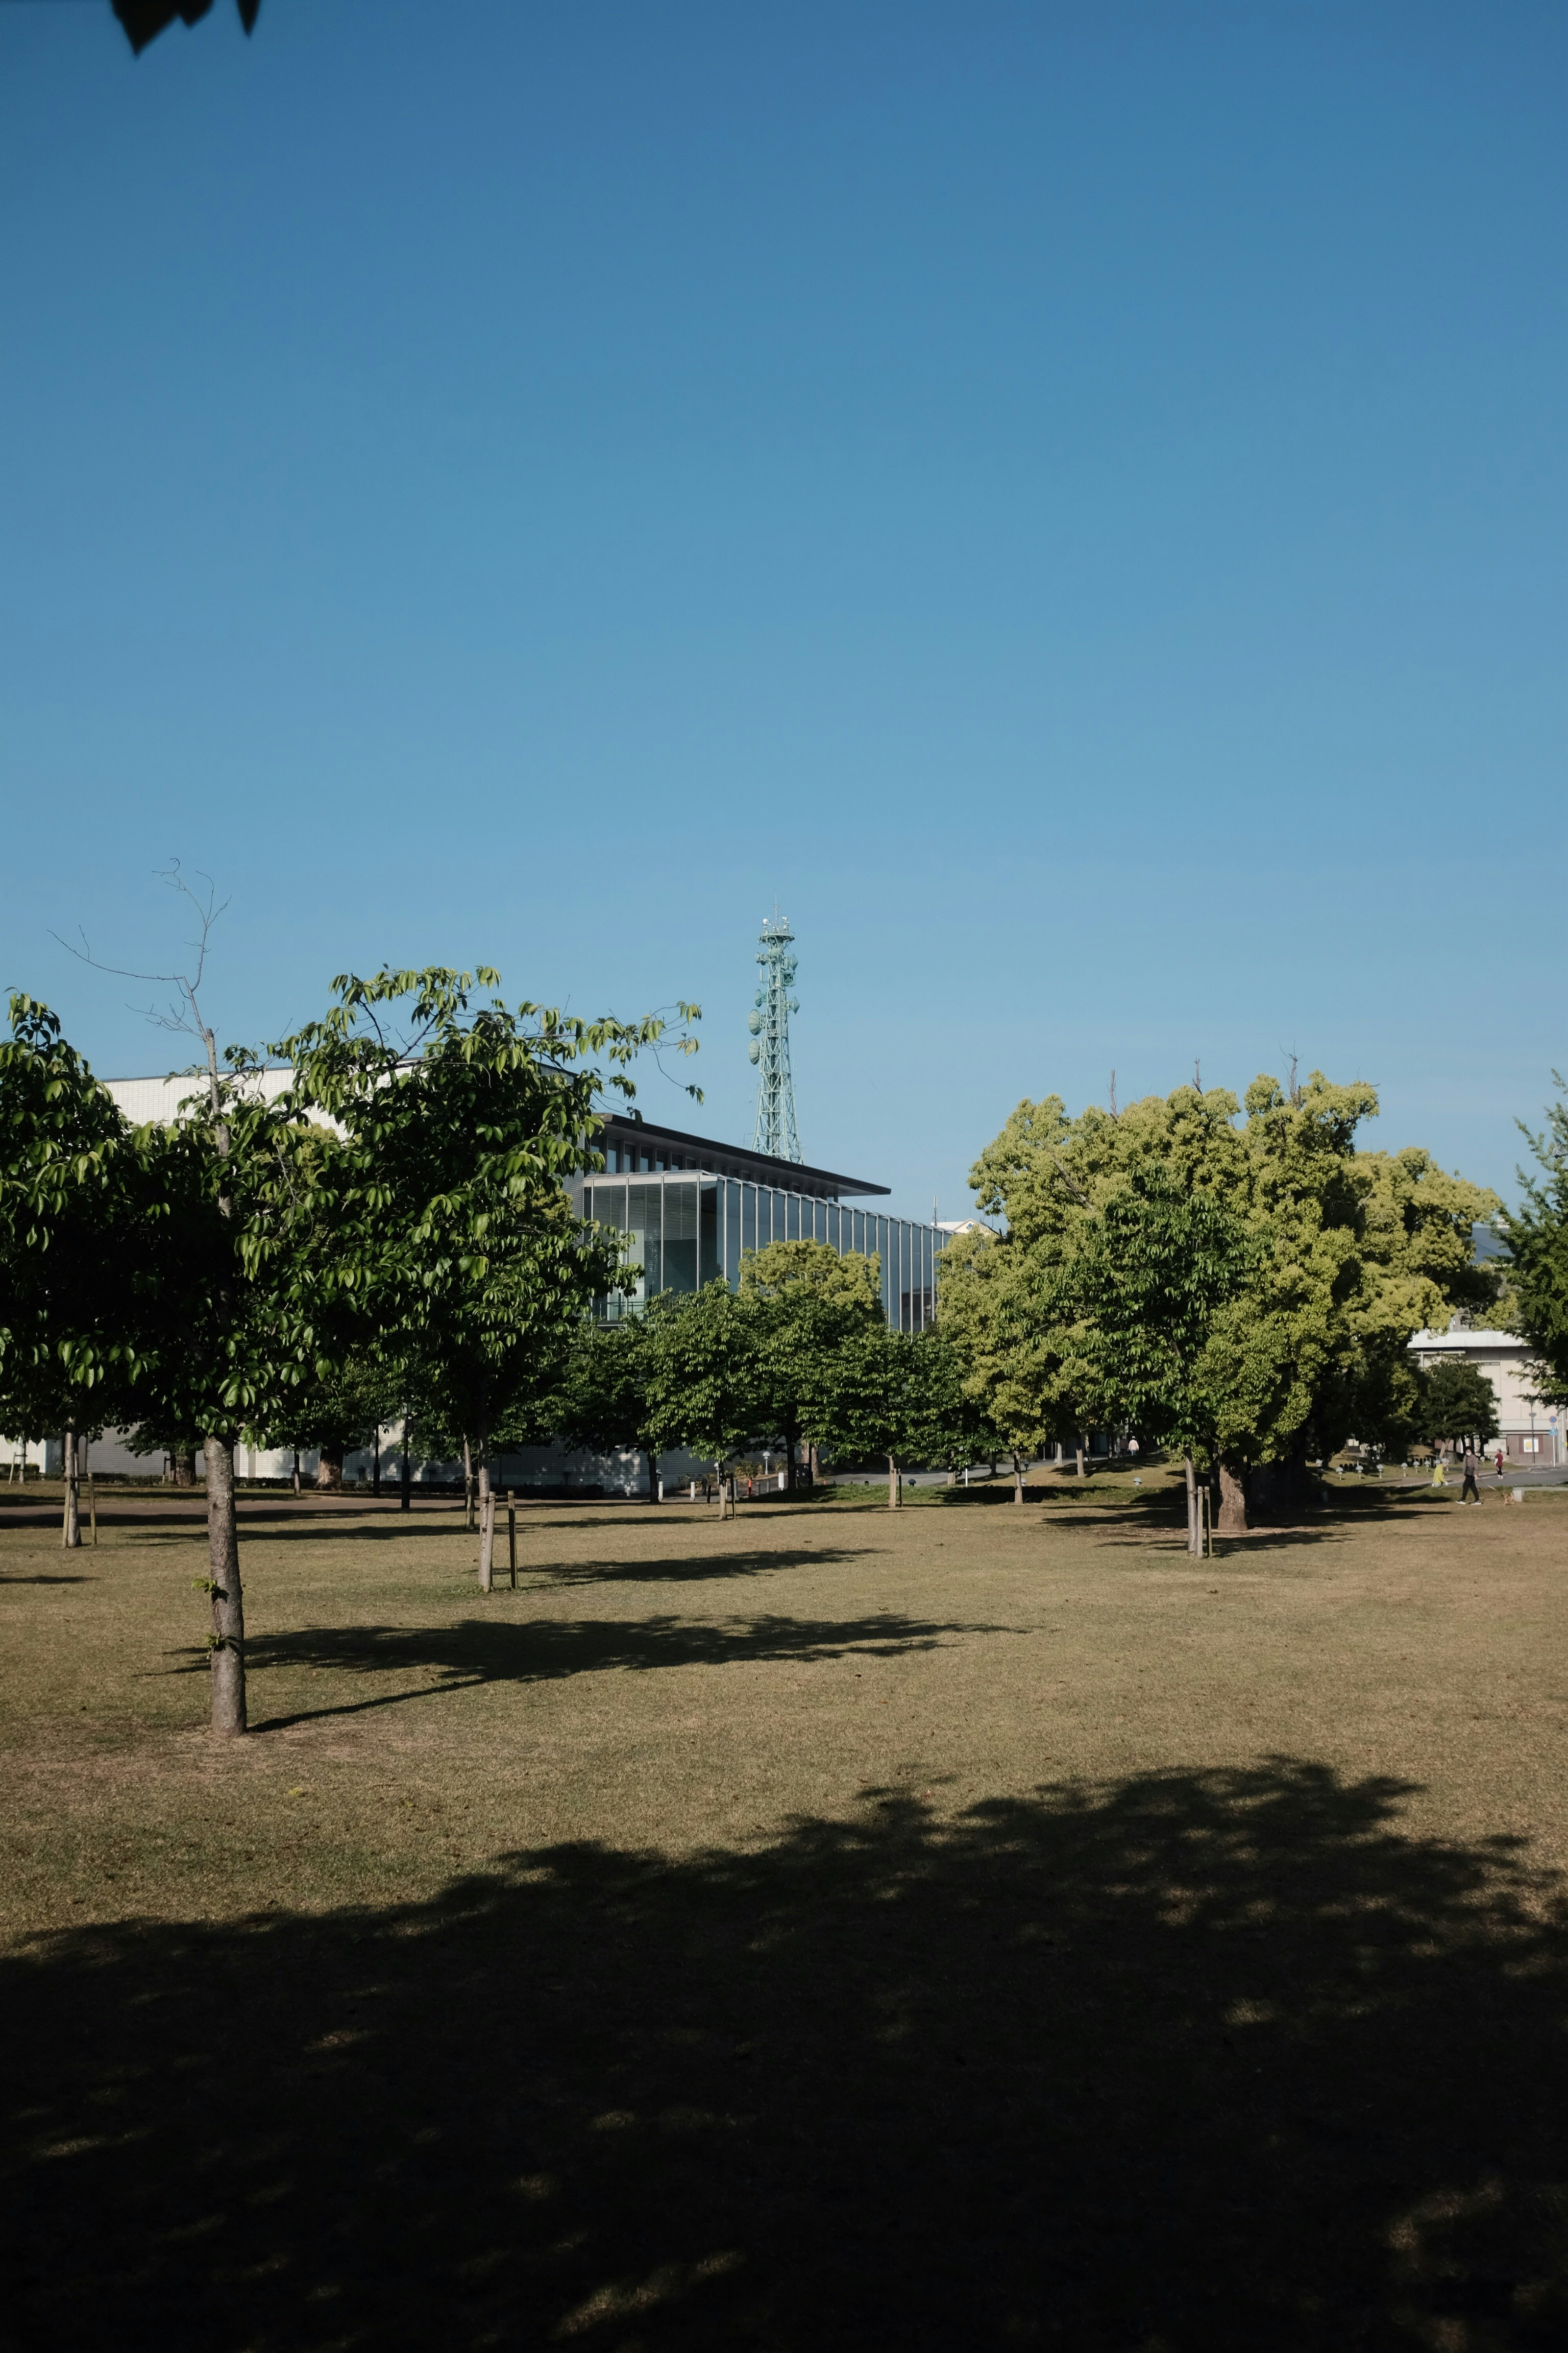
[[[646,1162],[651,1155],[637,1158]],[[616,1169],[581,1176],[571,1191],[585,1219],[623,1235],[623,1264],[639,1268],[630,1297],[599,1304],[607,1322],[635,1313],[637,1301],[654,1292],[693,1292],[715,1275],[724,1275],[733,1289],[741,1254],[766,1249],[769,1242],[877,1252],[889,1325],[896,1332],[924,1332],[936,1315],[936,1259],[947,1240],[938,1226],[696,1169],[644,1167],[635,1179],[632,1169]]]

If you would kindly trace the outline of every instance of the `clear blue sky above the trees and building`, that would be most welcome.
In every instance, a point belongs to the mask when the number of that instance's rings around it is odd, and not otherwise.
[[[1563,1014],[1559,0],[0,7],[0,981],[705,1007],[806,1155],[1371,1078],[1507,1186]]]

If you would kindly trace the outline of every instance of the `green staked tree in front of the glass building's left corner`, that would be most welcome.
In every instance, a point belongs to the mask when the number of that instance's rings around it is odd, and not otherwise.
[[[275,1052],[294,1064],[292,1108],[324,1113],[343,1136],[322,1160],[324,1306],[418,1360],[473,1445],[489,1593],[496,1431],[555,1377],[585,1306],[616,1280],[614,1242],[581,1231],[567,1179],[599,1165],[597,1099],[635,1094],[625,1064],[665,1021],[578,1021],[498,998],[470,1012],[475,981],[496,988],[498,974],[343,974],[327,1019]],[[679,1012],[696,1019],[693,1005]],[[672,1042],[696,1047],[689,1033]]]

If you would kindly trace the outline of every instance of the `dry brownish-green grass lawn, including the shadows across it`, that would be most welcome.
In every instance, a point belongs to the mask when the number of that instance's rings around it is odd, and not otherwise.
[[[0,2348],[1566,2346],[1568,1489],[1001,1494],[0,1504]]]

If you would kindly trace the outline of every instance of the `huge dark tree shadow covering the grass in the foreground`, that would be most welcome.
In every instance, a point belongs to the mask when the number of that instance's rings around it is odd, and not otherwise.
[[[19,2346],[1544,2353],[1568,1937],[1328,1767],[0,1972]]]

